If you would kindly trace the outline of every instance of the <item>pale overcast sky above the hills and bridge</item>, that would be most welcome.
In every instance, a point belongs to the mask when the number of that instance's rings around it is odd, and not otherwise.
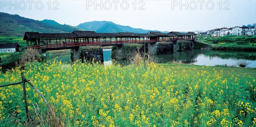
[[[134,28],[195,31],[256,23],[256,0],[1,0],[0,11],[77,26],[112,21]]]

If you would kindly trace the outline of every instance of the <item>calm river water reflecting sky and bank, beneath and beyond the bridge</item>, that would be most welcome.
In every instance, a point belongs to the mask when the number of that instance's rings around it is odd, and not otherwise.
[[[109,64],[111,61],[111,49],[103,50],[104,62]],[[192,51],[174,52],[173,54],[151,55],[158,63],[168,63],[173,60],[195,65],[227,65],[237,66],[236,62],[239,59],[250,62],[247,67],[256,67],[256,52],[229,52],[215,50],[194,49]],[[116,60],[117,62],[127,65],[124,60]]]

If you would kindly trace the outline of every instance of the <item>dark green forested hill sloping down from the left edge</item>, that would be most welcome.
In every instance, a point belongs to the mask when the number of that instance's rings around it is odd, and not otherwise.
[[[61,25],[54,20],[33,20],[18,14],[0,12],[0,36],[22,37],[24,32],[64,33],[83,30],[70,25]]]

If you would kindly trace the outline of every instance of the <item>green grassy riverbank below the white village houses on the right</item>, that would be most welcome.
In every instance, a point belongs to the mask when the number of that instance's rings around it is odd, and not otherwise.
[[[224,37],[201,36],[198,40],[212,44],[214,50],[230,51],[256,51],[256,35],[253,36],[236,36],[229,35]]]

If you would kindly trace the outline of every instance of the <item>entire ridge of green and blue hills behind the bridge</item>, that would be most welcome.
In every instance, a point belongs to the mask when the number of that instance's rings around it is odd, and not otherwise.
[[[25,32],[40,33],[70,33],[73,31],[95,31],[98,33],[134,32],[148,33],[150,31],[131,26],[122,26],[111,21],[91,21],[81,23],[78,26],[70,26],[57,23],[54,20],[45,19],[42,21],[21,17],[18,14],[0,12],[0,36],[22,37]],[[167,31],[163,33],[168,33]]]

